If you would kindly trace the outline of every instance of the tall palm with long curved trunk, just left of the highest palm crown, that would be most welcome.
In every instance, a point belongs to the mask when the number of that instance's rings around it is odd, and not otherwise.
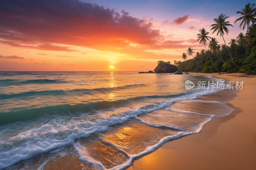
[[[223,40],[224,40],[224,37],[223,37],[224,31],[226,32],[226,34],[228,34],[228,32],[229,32],[227,26],[232,26],[231,24],[229,24],[229,21],[226,21],[226,18],[229,18],[229,17],[226,17],[226,15],[220,14],[219,18],[214,18],[213,19],[213,21],[216,24],[211,25],[212,26],[211,30],[213,30],[212,33],[215,33],[217,31],[217,35],[220,33],[220,36],[222,36]],[[224,42],[225,42],[225,40],[224,40]],[[225,42],[225,45],[227,47],[226,42]],[[229,50],[228,50],[228,54],[230,55],[230,58],[233,61],[233,63],[236,65],[236,63],[234,62],[231,54],[229,53]],[[240,70],[240,68],[237,65],[236,65],[236,67]]]

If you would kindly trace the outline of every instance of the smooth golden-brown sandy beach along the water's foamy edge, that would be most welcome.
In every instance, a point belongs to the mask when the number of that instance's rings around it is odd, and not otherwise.
[[[227,103],[235,111],[207,122],[200,133],[162,144],[154,152],[134,159],[126,169],[255,169],[256,76],[244,73],[189,74],[243,80],[243,89]]]

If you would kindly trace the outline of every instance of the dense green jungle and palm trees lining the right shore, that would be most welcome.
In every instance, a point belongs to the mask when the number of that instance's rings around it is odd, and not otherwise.
[[[210,33],[202,28],[197,34],[197,41],[204,49],[195,53],[192,48],[188,48],[187,52],[181,55],[183,62],[175,60],[174,65],[181,71],[206,73],[243,71],[246,74],[256,74],[256,24],[254,24],[256,8],[254,6],[255,4],[248,3],[242,11],[236,12],[243,16],[236,19],[235,23],[241,21],[240,28],[247,27],[246,33],[241,32],[226,43],[224,36],[229,33],[228,27],[233,25],[226,21],[228,16],[220,14],[213,19],[215,24],[211,25],[210,31],[212,34],[220,35],[224,44],[219,44],[215,37],[210,37]],[[192,59],[188,59],[187,55],[192,56]]]

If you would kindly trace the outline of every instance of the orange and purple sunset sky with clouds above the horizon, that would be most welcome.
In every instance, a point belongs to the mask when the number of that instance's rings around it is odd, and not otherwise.
[[[148,71],[181,60],[199,29],[224,43],[210,25],[221,13],[226,43],[246,30],[234,24],[245,1],[3,0],[0,71]],[[208,45],[208,44],[207,44]],[[188,59],[192,58],[189,56]],[[182,60],[181,60],[182,61]]]

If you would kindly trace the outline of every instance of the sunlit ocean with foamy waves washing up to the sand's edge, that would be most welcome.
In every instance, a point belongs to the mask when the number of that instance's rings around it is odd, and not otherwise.
[[[0,72],[0,169],[124,169],[233,111],[226,103],[236,90],[186,90],[186,80],[225,81],[133,71]]]

